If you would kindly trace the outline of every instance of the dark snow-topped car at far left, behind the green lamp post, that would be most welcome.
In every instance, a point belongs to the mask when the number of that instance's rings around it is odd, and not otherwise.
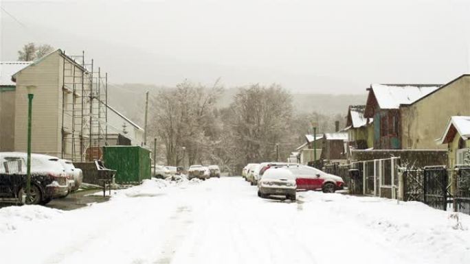
[[[0,197],[19,198],[25,201],[26,160],[22,152],[0,152]],[[8,171],[8,162],[19,164],[18,170]],[[27,204],[47,204],[54,198],[64,197],[69,192],[65,169],[59,158],[42,154],[31,154],[31,199]]]

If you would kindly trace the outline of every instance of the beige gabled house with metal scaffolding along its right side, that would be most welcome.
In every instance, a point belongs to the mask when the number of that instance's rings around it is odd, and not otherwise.
[[[57,49],[12,75],[15,151],[27,149],[27,86],[36,86],[33,152],[82,161],[92,158],[87,149],[106,144],[107,74],[93,67],[85,53],[67,56]]]

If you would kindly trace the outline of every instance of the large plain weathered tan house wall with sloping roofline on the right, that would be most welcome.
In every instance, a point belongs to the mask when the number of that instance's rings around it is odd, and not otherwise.
[[[470,76],[464,75],[410,106],[401,106],[403,149],[445,149],[440,138],[449,117],[470,115]]]

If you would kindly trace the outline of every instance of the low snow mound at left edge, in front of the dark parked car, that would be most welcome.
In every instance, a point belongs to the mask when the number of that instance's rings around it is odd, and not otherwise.
[[[27,226],[31,222],[60,217],[63,211],[38,205],[8,206],[0,208],[0,234]]]

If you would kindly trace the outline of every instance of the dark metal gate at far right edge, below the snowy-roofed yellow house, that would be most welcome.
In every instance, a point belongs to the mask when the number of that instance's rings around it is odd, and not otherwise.
[[[454,210],[470,215],[470,166],[456,166],[456,174]]]

